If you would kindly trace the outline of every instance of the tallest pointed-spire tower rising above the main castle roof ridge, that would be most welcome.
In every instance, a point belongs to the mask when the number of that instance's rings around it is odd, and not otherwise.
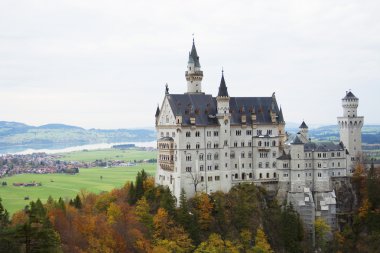
[[[202,93],[203,71],[199,63],[199,56],[193,39],[193,46],[189,53],[189,61],[187,63],[187,71],[185,72],[187,80],[187,93]]]

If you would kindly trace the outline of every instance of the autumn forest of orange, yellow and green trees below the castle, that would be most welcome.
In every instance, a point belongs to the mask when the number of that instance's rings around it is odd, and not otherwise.
[[[261,187],[191,199],[182,192],[177,207],[141,171],[110,192],[37,200],[12,217],[0,201],[0,252],[379,252],[379,174],[357,166],[352,183],[359,208],[335,231],[317,219],[314,246],[293,207]]]

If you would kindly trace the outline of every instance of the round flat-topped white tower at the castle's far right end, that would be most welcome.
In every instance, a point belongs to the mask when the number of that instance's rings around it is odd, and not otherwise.
[[[362,152],[362,127],[364,117],[357,115],[359,99],[349,91],[342,99],[343,117],[338,117],[340,141],[348,151],[351,161]]]

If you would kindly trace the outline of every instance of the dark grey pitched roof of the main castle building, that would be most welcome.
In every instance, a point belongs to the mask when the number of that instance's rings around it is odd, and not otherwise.
[[[207,94],[167,95],[174,115],[182,116],[182,124],[190,125],[190,116],[196,125],[218,125],[216,98]],[[231,125],[241,124],[241,116],[246,115],[246,124],[252,124],[251,114],[256,114],[256,123],[271,124],[270,111],[279,115],[277,102],[272,97],[230,97]],[[280,123],[279,117],[277,122]]]

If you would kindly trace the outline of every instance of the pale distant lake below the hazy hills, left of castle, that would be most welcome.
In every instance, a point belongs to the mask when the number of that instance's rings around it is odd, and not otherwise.
[[[113,145],[122,144],[135,144],[136,147],[152,147],[157,146],[157,142],[117,142],[117,143],[97,143],[97,144],[85,144],[85,145],[73,145],[73,144],[49,144],[49,145],[20,145],[20,146],[0,146],[0,155],[4,154],[32,154],[32,153],[64,153],[80,150],[94,150],[94,149],[104,149],[111,148]]]

